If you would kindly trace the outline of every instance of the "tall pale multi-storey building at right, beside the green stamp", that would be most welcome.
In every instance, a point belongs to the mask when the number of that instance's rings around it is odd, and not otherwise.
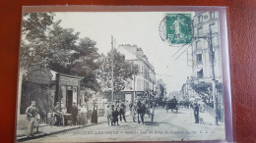
[[[220,80],[223,75],[218,12],[196,13],[194,17],[196,41],[192,46],[193,76],[205,80],[212,79],[210,31],[212,31],[215,77]]]

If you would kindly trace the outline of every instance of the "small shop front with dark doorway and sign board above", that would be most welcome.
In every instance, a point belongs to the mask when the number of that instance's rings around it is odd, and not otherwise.
[[[83,98],[80,96],[80,83],[83,77],[56,73],[55,105],[60,103],[60,111],[71,114],[73,103],[81,104]]]

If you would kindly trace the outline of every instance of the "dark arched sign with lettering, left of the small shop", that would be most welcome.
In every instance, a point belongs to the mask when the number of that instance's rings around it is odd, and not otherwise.
[[[43,66],[34,66],[28,71],[28,80],[32,83],[49,84],[52,79],[52,73]]]

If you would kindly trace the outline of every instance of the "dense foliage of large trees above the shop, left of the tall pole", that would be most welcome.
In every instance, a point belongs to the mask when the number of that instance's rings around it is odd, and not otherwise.
[[[84,87],[99,90],[96,41],[80,38],[73,28],[60,26],[53,13],[24,15],[21,44],[21,68],[43,65],[52,71],[83,76]]]

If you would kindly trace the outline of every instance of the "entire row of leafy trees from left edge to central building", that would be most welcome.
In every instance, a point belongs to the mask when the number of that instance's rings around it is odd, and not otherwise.
[[[128,79],[138,73],[138,67],[117,50],[99,54],[96,41],[81,38],[79,32],[60,24],[54,13],[24,14],[21,68],[29,71],[33,65],[43,65],[52,71],[83,76],[81,86],[97,92],[111,88],[113,60],[115,93],[123,90]]]

